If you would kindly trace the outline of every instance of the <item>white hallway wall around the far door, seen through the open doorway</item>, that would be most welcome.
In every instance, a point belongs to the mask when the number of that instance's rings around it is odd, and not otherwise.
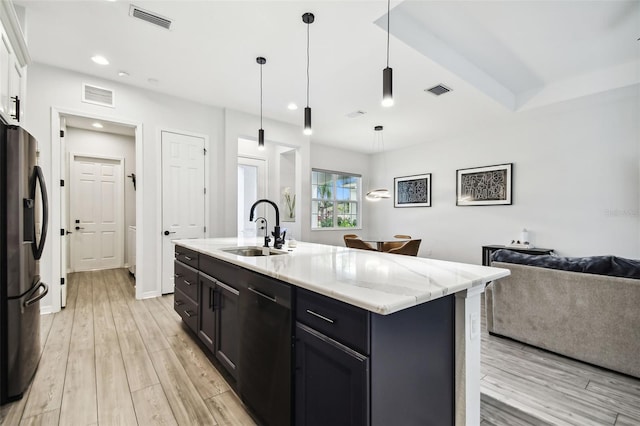
[[[69,163],[69,153],[83,154],[83,155],[95,155],[104,157],[119,157],[124,159],[124,262],[129,259],[129,253],[127,253],[127,239],[129,238],[129,226],[136,224],[136,193],[133,188],[133,183],[130,178],[132,173],[136,172],[136,141],[133,136],[118,135],[114,133],[98,132],[93,130],[78,129],[75,127],[67,127],[65,133],[66,148],[65,158],[67,164]],[[65,177],[67,182],[70,182],[69,175]],[[73,190],[73,188],[69,187]],[[70,212],[70,191],[66,191],[67,199],[67,211]],[[70,221],[73,218],[69,218]],[[62,227],[72,229],[71,223],[63,224]],[[67,257],[68,265],[70,264],[70,257]]]

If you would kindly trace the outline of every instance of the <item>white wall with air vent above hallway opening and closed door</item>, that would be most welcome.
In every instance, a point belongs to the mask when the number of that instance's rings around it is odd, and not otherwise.
[[[82,83],[91,83],[100,87],[115,90],[115,108],[85,104],[81,102]],[[59,68],[34,63],[29,66],[28,98],[26,100],[27,114],[24,127],[39,141],[41,151],[40,164],[43,167],[47,182],[54,182],[53,171],[56,169],[52,163],[52,143],[58,143],[57,138],[52,140],[51,109],[56,108],[76,115],[95,115],[110,119],[110,121],[126,121],[139,123],[142,126],[142,158],[143,170],[137,170],[139,182],[144,184],[145,191],[142,196],[143,234],[138,234],[138,241],[142,244],[143,258],[138,258],[138,265],[142,261],[143,270],[138,274],[143,277],[137,285],[142,286],[145,297],[152,297],[159,291],[160,259],[157,247],[161,246],[160,223],[160,173],[161,173],[161,149],[160,130],[182,130],[192,133],[207,135],[209,138],[210,167],[210,235],[221,235],[224,224],[221,214],[221,188],[223,171],[220,167],[224,158],[224,113],[220,108],[197,104],[171,96],[162,95],[105,81],[84,74],[74,73]],[[140,152],[140,151],[138,151]],[[234,154],[235,155],[235,154]],[[56,159],[57,160],[57,159]],[[56,190],[56,186],[50,185],[49,192]],[[52,198],[50,196],[50,198]],[[216,208],[218,207],[218,208]],[[56,209],[56,206],[52,206]],[[51,213],[51,229],[60,228],[60,216],[56,212]],[[57,220],[57,223],[56,223]],[[140,221],[138,221],[140,222]],[[138,223],[140,228],[141,223]],[[235,229],[235,227],[233,228]],[[54,265],[54,251],[60,247],[60,236],[51,232],[51,239],[47,241],[41,272],[43,280],[51,283],[50,294],[43,299],[41,304],[43,312],[55,312],[59,310],[59,280],[56,271],[59,265]],[[58,282],[56,282],[58,281]]]

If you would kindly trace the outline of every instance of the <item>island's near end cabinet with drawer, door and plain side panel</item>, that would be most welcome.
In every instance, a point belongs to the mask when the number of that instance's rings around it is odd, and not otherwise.
[[[296,426],[454,423],[454,296],[378,315],[296,294]]]

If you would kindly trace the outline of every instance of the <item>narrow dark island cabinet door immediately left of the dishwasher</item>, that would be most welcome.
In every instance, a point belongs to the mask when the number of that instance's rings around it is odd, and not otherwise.
[[[238,339],[240,327],[238,322],[238,301],[240,292],[227,284],[218,281],[216,283],[217,309],[216,318],[216,358],[231,373],[238,378]]]

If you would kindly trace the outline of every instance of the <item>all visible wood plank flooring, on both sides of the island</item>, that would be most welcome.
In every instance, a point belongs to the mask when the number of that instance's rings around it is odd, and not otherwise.
[[[0,425],[255,425],[173,296],[135,300],[124,269],[68,285],[67,307],[41,318],[34,381]],[[640,380],[486,331],[481,377],[483,426],[640,425]]]

